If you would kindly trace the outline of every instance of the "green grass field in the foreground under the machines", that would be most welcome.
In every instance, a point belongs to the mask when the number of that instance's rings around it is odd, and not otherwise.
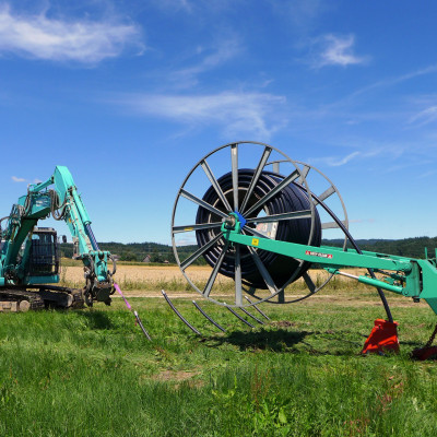
[[[436,436],[437,363],[409,353],[437,317],[393,297],[401,353],[358,353],[382,308],[338,290],[263,305],[251,330],[202,303],[131,298],[153,336],[115,299],[76,311],[0,314],[0,436]],[[255,311],[252,311],[255,312]]]

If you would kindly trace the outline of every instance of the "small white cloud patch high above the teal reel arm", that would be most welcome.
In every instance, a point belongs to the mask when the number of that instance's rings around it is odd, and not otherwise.
[[[312,66],[315,68],[321,68],[326,66],[347,67],[366,63],[368,60],[367,57],[358,57],[354,55],[354,35],[323,35],[314,43],[318,52],[316,54],[315,59],[312,59]]]

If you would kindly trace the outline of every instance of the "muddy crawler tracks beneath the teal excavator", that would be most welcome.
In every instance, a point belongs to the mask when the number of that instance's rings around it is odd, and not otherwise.
[[[83,291],[54,285],[0,290],[0,312],[25,312],[45,308],[83,308]]]

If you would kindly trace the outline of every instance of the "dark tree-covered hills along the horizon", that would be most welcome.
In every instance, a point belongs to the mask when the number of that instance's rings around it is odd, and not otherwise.
[[[429,257],[435,257],[437,248],[437,237],[415,237],[404,239],[357,239],[362,250],[369,250],[373,252],[398,255],[402,257],[424,258],[424,248],[428,248]],[[173,248],[168,245],[161,245],[158,243],[99,243],[101,249],[109,250],[116,253],[122,261],[143,261],[146,256],[150,257],[151,262],[176,262],[173,255]],[[342,239],[326,239],[322,240],[324,246],[342,246]],[[188,255],[198,249],[197,246],[184,246],[180,257],[184,259]],[[63,257],[71,258],[73,256],[72,244],[61,244],[61,253]],[[200,257],[197,264],[205,264],[203,257]]]

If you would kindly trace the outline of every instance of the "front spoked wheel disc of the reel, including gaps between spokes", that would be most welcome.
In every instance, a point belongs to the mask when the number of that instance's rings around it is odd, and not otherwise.
[[[286,170],[272,172],[272,160]],[[306,274],[309,263],[229,245],[222,223],[234,213],[246,235],[319,246],[321,223],[310,199],[299,166],[279,150],[249,142],[214,150],[189,172],[175,201],[172,241],[182,274],[198,293],[221,305],[250,306],[279,295],[293,277]],[[201,260],[210,265],[203,280],[192,269]],[[245,294],[257,300],[244,302]]]

